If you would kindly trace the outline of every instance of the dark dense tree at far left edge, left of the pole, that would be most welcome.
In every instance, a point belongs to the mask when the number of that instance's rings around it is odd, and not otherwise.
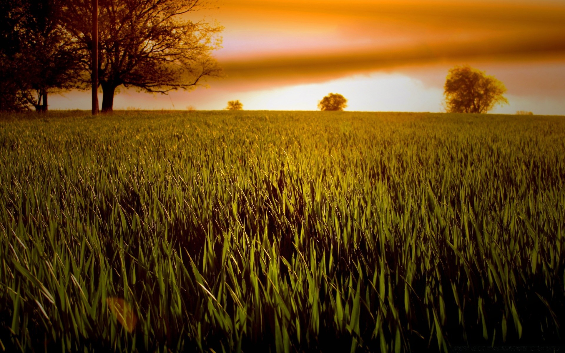
[[[76,87],[80,56],[60,25],[65,0],[0,0],[0,110],[47,111],[47,95]]]

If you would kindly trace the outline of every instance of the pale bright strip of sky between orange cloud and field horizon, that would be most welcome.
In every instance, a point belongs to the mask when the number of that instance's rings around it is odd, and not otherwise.
[[[479,64],[479,67],[483,65]],[[308,84],[272,85],[249,89],[245,85],[211,85],[210,89],[192,92],[173,91],[169,95],[138,94],[123,90],[116,95],[115,108],[185,110],[192,106],[198,110],[221,110],[228,101],[239,99],[244,110],[317,110],[318,101],[328,93],[340,93],[347,98],[347,111],[429,111],[441,112],[443,83],[450,64],[423,67],[416,71],[398,69],[400,72],[373,72],[368,75],[350,75],[341,79]],[[486,67],[507,82],[510,104],[496,107],[499,114],[514,114],[518,110],[535,111],[536,114],[559,115],[565,111],[565,85],[550,85],[551,77],[562,77],[565,65],[516,64]],[[528,72],[531,72],[529,76]],[[512,77],[515,77],[512,79]],[[528,77],[522,81],[520,77]],[[81,108],[89,103],[89,93],[73,91],[64,96],[54,96],[51,108]],[[102,99],[102,95],[99,95]]]

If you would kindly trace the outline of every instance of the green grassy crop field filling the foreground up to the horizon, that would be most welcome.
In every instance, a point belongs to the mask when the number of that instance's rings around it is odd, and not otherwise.
[[[563,345],[564,181],[565,117],[3,115],[0,348]]]

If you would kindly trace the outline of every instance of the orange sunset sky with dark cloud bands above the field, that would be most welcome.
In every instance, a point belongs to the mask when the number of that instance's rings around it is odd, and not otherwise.
[[[114,109],[316,110],[340,93],[348,111],[444,111],[447,71],[497,77],[509,105],[492,112],[565,115],[564,0],[218,0],[194,16],[224,26],[223,79],[168,95],[121,89]],[[100,97],[101,100],[102,97]],[[90,93],[50,98],[89,109]]]

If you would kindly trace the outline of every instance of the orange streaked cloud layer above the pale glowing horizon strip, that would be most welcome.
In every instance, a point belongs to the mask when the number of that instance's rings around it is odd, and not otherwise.
[[[565,58],[565,5],[555,3],[223,3],[241,23],[253,29],[257,21],[267,31],[220,53],[231,79],[319,79],[446,59]]]

